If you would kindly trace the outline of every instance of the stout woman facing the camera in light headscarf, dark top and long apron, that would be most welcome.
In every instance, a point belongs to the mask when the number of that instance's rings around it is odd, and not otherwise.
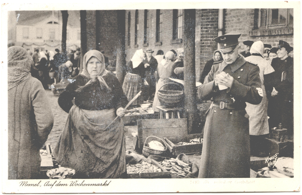
[[[60,107],[69,112],[54,155],[76,178],[121,178],[126,175],[125,135],[120,119],[128,103],[105,59],[97,50],[84,56],[83,72],[60,94]],[[72,100],[74,98],[74,105]]]

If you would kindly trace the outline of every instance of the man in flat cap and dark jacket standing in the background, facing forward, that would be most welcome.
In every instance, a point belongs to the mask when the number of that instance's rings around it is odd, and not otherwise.
[[[155,94],[156,90],[156,79],[155,72],[157,70],[158,61],[152,56],[153,50],[147,48],[145,51],[146,58],[143,61],[144,64],[148,64],[149,66],[145,71],[145,78],[148,83],[148,89],[146,90],[146,94],[144,95],[144,100],[153,100],[153,94]]]

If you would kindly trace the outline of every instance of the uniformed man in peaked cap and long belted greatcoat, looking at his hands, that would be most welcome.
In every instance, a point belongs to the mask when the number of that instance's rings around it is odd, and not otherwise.
[[[213,99],[204,125],[200,178],[250,177],[250,135],[246,103],[259,104],[263,91],[259,67],[239,55],[238,38],[214,39],[223,61],[214,63],[198,87],[200,100]]]

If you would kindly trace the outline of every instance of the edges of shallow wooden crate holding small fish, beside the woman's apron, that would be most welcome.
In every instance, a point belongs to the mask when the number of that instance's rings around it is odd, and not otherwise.
[[[128,178],[171,178],[171,172],[165,170],[163,167],[159,165],[155,160],[152,160],[152,164],[160,167],[162,172],[142,172],[142,173],[129,173],[127,174]]]

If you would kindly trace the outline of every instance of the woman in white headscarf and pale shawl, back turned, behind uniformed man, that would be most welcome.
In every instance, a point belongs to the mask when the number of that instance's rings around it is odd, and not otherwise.
[[[261,41],[255,42],[250,50],[251,56],[246,57],[246,61],[259,66],[260,79],[262,84],[263,98],[260,104],[254,105],[246,103],[246,111],[249,115],[250,125],[250,143],[251,143],[251,155],[265,156],[265,147],[261,145],[261,139],[267,137],[269,134],[268,118],[267,118],[267,106],[268,99],[265,92],[264,75],[268,75],[274,72],[273,67],[269,61],[263,58],[264,45]]]

